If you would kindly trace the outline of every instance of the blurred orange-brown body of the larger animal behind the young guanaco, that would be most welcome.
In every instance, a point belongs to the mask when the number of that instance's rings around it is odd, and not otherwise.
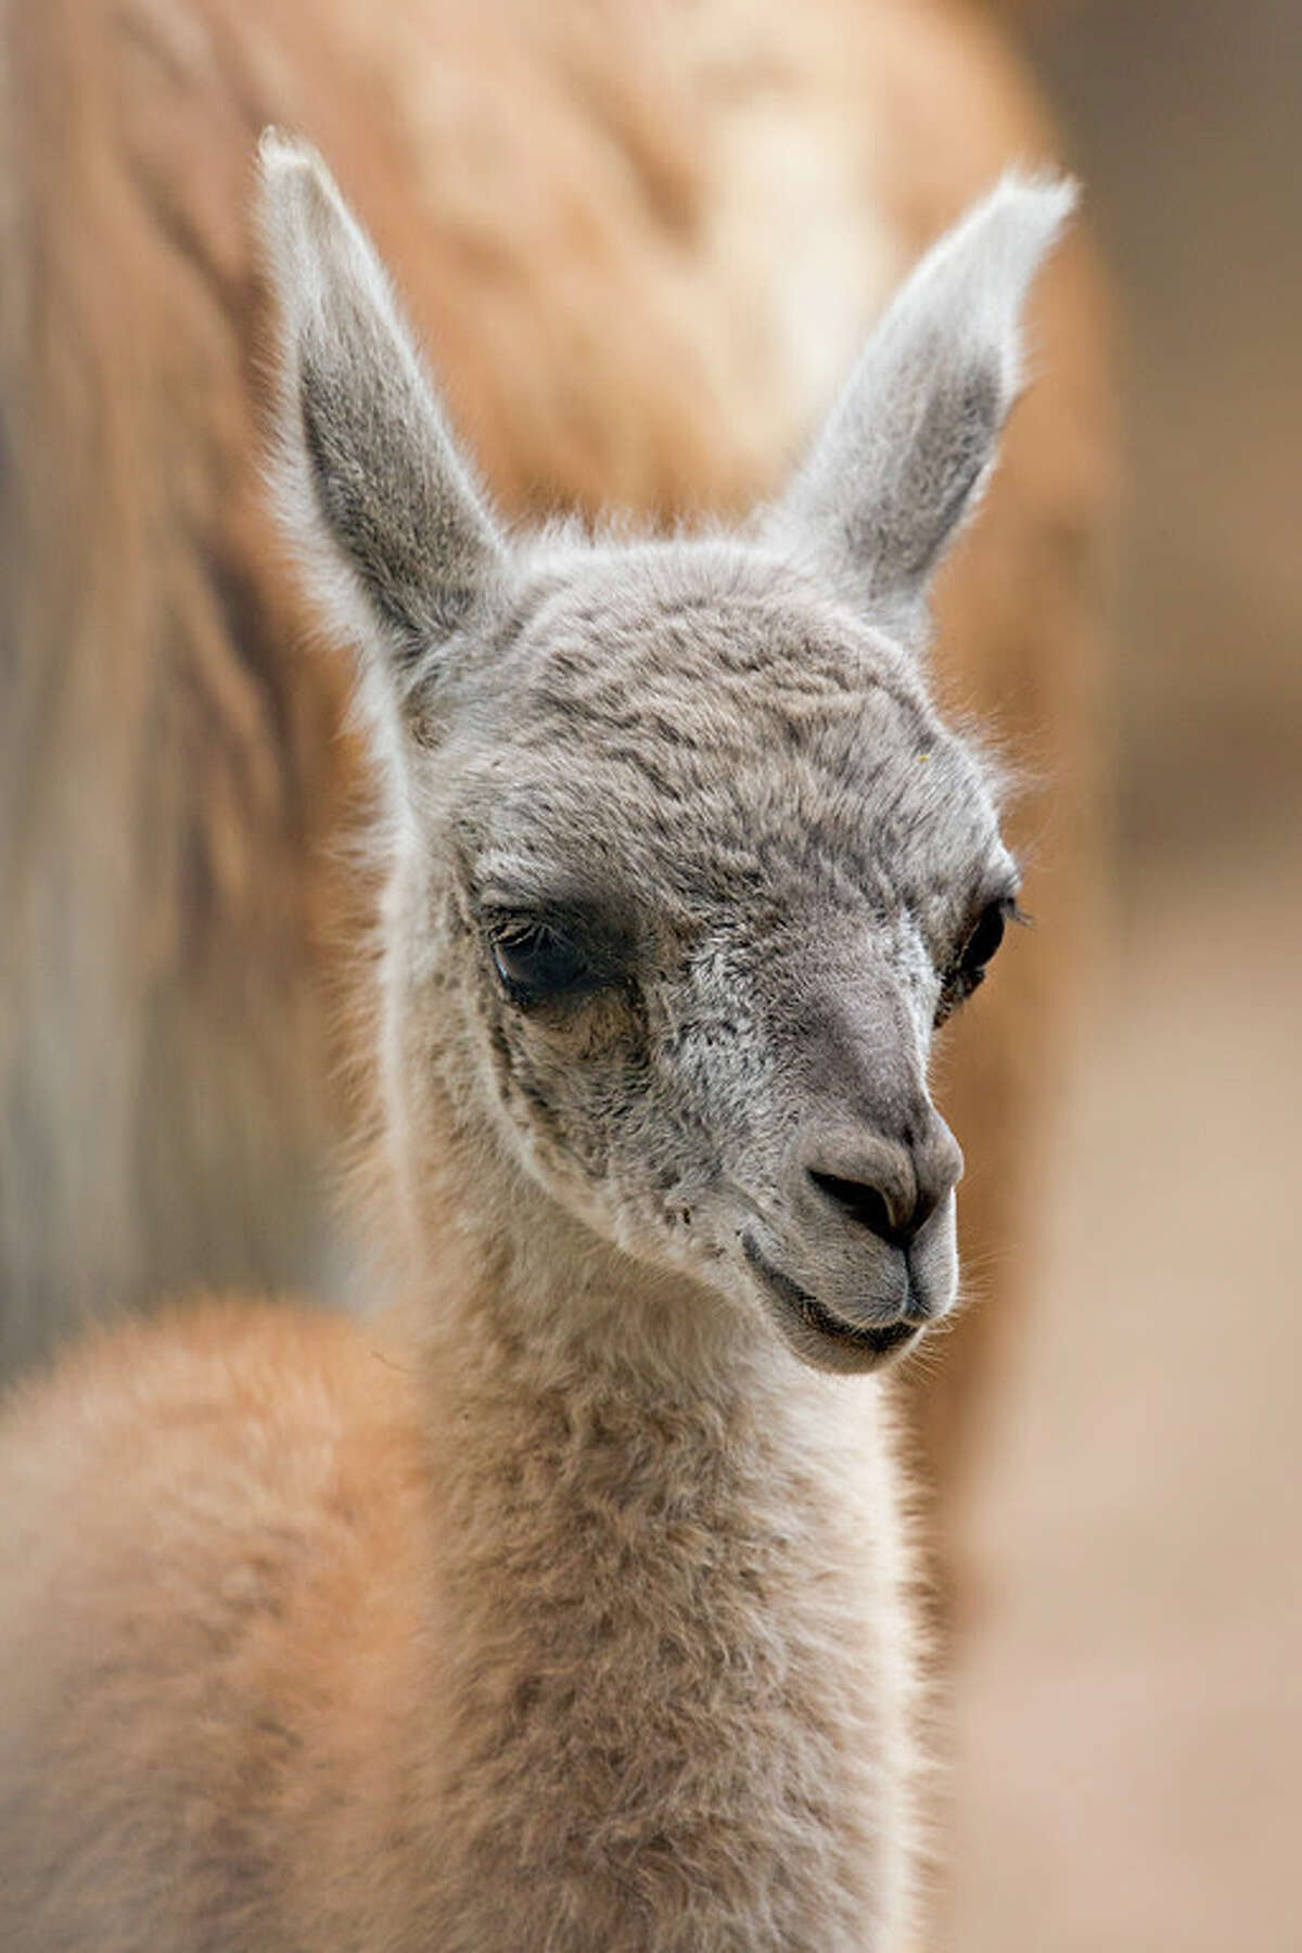
[[[904,266],[1052,139],[997,35],[925,0],[47,0],[0,16],[0,1303],[344,1293],[322,1092],[365,926],[347,660],[305,652],[254,434],[246,205],[303,129],[396,270],[509,510],[771,488]],[[1027,1244],[1097,916],[1111,418],[1089,248],[945,578],[943,695],[1052,793],[1021,939],[955,1035],[982,1287],[925,1387],[953,1451]],[[1052,809],[1046,814],[1044,809]],[[1025,1260],[1025,1256],[1021,1256]]]

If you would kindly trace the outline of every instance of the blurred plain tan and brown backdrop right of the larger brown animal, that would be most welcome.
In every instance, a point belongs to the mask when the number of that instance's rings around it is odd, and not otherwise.
[[[1113,270],[1120,953],[964,1506],[964,1953],[1302,1945],[1302,8],[1019,33]]]

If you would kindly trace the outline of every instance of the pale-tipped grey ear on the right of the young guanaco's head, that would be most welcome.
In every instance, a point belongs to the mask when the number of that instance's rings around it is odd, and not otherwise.
[[[1068,182],[1003,182],[921,260],[863,350],[769,518],[904,643],[976,506],[1021,381],[1027,287],[1076,203]]]

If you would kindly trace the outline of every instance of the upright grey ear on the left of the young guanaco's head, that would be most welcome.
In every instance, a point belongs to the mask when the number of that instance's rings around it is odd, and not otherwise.
[[[398,703],[502,566],[392,287],[312,148],[267,131],[260,229],[277,301],[279,514],[336,629]]]

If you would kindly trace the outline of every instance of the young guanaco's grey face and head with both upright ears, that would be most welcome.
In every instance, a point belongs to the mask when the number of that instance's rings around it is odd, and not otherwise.
[[[1070,205],[1005,180],[921,262],[744,533],[509,537],[320,160],[262,145],[275,478],[392,799],[392,1150],[533,1184],[869,1369],[955,1299],[935,1027],[1013,912],[927,582],[992,469]]]

